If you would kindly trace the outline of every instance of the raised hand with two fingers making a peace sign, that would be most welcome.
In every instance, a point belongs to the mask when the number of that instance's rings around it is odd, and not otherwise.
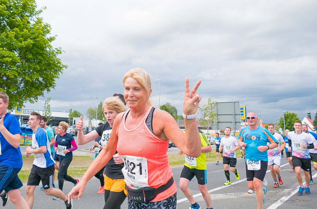
[[[201,100],[201,96],[199,94],[196,94],[196,91],[200,83],[201,83],[201,80],[199,79],[196,85],[190,91],[189,79],[188,77],[185,77],[185,95],[184,95],[184,106],[183,106],[183,113],[185,115],[191,115],[197,112],[197,108]]]

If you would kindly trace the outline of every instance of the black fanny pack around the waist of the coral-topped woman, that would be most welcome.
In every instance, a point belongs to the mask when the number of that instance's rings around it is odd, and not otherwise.
[[[166,189],[170,188],[174,183],[173,177],[167,181],[166,184],[158,187],[143,187],[140,189],[130,189],[128,186],[126,186],[126,192],[128,193],[128,197],[136,202],[145,203],[153,200],[156,195],[158,195],[161,192],[164,192]]]

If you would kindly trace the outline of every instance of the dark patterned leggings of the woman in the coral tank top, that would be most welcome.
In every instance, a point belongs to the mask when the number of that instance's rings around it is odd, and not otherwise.
[[[128,198],[129,209],[176,209],[177,194],[159,202],[139,203]]]

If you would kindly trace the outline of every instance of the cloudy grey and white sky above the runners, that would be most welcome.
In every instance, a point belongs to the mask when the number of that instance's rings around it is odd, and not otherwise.
[[[37,0],[68,65],[56,88],[26,109],[86,114],[97,99],[123,93],[123,75],[145,69],[153,103],[181,114],[184,78],[198,93],[240,101],[264,122],[314,117],[317,108],[316,1]],[[99,102],[101,101],[99,100]]]

